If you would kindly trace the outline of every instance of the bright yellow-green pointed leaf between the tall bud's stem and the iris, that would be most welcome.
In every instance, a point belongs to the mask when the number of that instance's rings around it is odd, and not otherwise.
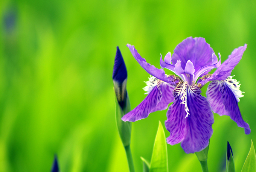
[[[168,172],[168,155],[165,131],[159,121],[157,136],[151,158],[150,172]]]

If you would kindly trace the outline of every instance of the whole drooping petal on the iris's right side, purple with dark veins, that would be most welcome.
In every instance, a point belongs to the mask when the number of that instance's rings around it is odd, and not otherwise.
[[[237,94],[238,90],[236,89],[239,89],[239,85],[231,86],[229,81],[215,80],[211,82],[206,92],[207,100],[210,102],[214,113],[218,113],[220,116],[230,116],[239,127],[244,128],[245,134],[250,134],[250,126],[243,120],[238,107],[238,99],[241,95]]]

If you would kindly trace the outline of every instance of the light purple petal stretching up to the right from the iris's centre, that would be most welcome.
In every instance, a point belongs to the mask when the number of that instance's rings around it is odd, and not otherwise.
[[[232,70],[241,60],[246,48],[247,44],[244,44],[244,46],[238,47],[237,49],[233,50],[231,55],[229,55],[229,58],[216,69],[213,75],[204,81],[200,81],[200,84],[204,85],[209,81],[221,81],[227,79],[227,77],[231,75]]]

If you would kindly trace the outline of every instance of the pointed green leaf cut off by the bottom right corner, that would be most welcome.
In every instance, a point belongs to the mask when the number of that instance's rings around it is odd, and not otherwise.
[[[254,150],[252,140],[251,140],[250,152],[245,160],[245,163],[241,172],[256,172],[256,157],[255,157],[255,150]]]

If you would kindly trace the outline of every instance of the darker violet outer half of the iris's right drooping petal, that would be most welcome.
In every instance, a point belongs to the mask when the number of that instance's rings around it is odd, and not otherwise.
[[[224,82],[223,86],[219,90],[222,94],[223,105],[225,110],[229,112],[230,118],[237,123],[239,127],[244,128],[245,134],[250,134],[251,129],[248,123],[246,123],[241,115],[238,107],[238,101],[230,89],[229,85]]]

